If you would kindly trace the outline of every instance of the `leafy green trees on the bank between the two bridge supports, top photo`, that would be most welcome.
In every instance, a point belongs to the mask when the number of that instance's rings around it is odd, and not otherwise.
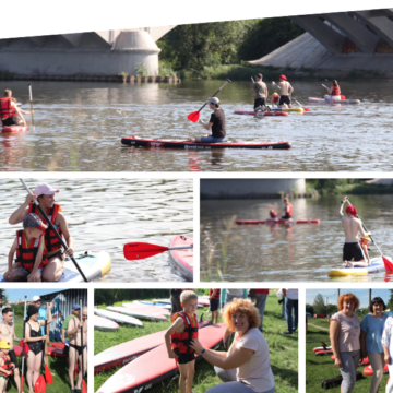
[[[261,72],[274,80],[282,69],[248,61],[270,53],[303,32],[288,17],[179,25],[157,41],[162,49],[159,63],[167,73],[176,72],[181,79],[236,81]]]

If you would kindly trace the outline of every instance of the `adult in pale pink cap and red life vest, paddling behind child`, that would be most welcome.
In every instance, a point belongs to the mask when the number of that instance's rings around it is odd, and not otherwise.
[[[47,225],[46,219],[34,203],[35,200],[38,200],[47,216],[51,217],[51,223],[55,228],[57,228],[57,231],[62,235],[66,240],[68,249],[63,252],[59,239],[50,227],[48,226],[45,230],[45,248],[48,250],[46,257],[49,260],[43,271],[43,281],[46,282],[57,282],[64,273],[63,266],[66,257],[73,255],[73,239],[67,225],[66,217],[60,213],[60,205],[55,203],[55,193],[57,192],[59,192],[59,190],[52,189],[49,184],[39,183],[35,188],[34,193],[26,196],[25,202],[11,214],[9,219],[11,225],[15,225],[22,223],[27,214],[35,213],[43,223]]]

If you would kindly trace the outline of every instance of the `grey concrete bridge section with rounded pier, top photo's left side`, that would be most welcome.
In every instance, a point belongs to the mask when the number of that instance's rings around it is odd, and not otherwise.
[[[0,39],[0,72],[17,75],[158,75],[155,44],[175,26]]]

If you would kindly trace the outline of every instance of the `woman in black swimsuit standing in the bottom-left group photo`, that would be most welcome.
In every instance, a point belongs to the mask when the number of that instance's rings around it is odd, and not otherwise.
[[[27,354],[27,384],[28,392],[34,392],[35,383],[39,377],[39,369],[43,365],[44,342],[49,341],[47,334],[41,333],[40,327],[45,326],[44,320],[38,320],[39,309],[36,306],[29,305],[27,308],[27,318],[25,320],[25,342],[28,344]],[[48,308],[48,323],[52,322],[50,308]]]

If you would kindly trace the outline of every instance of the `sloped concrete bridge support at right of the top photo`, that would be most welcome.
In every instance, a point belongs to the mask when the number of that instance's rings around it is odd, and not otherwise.
[[[307,33],[254,64],[393,73],[393,9],[289,16]],[[338,78],[338,76],[337,76]]]

